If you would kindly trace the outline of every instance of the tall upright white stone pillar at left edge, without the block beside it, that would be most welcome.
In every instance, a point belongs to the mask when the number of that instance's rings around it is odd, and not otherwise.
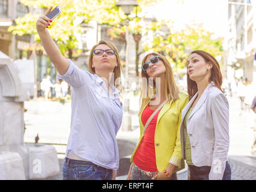
[[[22,83],[13,60],[2,52],[0,85],[0,178],[25,179],[22,156],[26,154],[20,147],[24,133]]]

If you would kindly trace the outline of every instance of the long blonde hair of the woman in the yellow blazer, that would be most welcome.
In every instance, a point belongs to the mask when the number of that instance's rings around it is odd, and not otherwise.
[[[169,64],[169,61],[165,58],[165,56],[159,54],[159,53],[148,53],[143,59],[142,59],[142,65],[146,62],[147,57],[150,55],[154,56],[160,56],[162,58],[163,64],[165,65],[166,71],[165,71],[165,95],[168,97],[168,100],[175,101],[178,97],[178,86],[175,83],[174,74],[171,68],[171,65]],[[147,73],[145,73],[143,70],[141,70],[141,107],[139,109],[139,114],[142,112],[144,107],[147,105],[147,103],[151,100],[153,95],[148,95],[148,79],[150,77]],[[146,80],[144,82],[144,79]],[[146,85],[145,85],[146,84]],[[156,89],[156,82],[153,82],[153,89]]]

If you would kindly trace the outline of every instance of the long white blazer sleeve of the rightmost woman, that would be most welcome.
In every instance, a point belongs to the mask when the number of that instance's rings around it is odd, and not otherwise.
[[[213,149],[212,168],[209,179],[221,180],[227,161],[229,137],[229,112],[228,100],[224,94],[218,94],[212,98],[211,113],[215,133],[215,145]]]

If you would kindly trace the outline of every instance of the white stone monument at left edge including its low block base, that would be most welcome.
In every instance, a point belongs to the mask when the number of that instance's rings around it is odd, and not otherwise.
[[[20,68],[18,71],[28,72]],[[20,77],[25,78],[23,82]],[[13,60],[0,52],[0,179],[43,179],[59,172],[53,146],[24,145],[26,83],[28,76],[19,75]]]

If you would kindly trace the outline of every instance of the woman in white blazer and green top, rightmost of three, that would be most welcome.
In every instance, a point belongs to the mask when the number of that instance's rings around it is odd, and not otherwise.
[[[218,61],[195,50],[187,60],[187,92],[190,101],[181,116],[181,154],[189,178],[231,179],[228,163],[228,100],[221,89]]]

